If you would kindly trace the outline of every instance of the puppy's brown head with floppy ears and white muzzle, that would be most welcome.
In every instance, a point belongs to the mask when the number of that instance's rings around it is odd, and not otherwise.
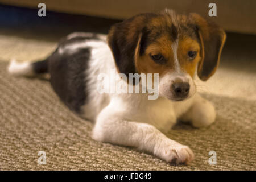
[[[200,15],[172,10],[136,15],[109,32],[119,73],[159,73],[160,96],[180,101],[196,92],[193,76],[207,80],[218,67],[226,34]]]

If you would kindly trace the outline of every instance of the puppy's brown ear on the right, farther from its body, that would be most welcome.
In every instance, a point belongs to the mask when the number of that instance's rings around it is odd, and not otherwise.
[[[201,80],[205,81],[216,72],[226,34],[215,23],[205,20],[196,13],[191,13],[190,19],[196,26],[201,42],[201,61],[197,67],[197,74]]]

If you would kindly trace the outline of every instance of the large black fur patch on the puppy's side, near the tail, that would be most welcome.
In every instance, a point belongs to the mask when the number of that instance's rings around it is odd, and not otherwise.
[[[74,38],[74,41],[78,40]],[[53,89],[69,109],[81,113],[81,106],[85,104],[88,95],[85,71],[90,59],[90,48],[80,48],[75,53],[61,55],[56,50],[48,59]]]

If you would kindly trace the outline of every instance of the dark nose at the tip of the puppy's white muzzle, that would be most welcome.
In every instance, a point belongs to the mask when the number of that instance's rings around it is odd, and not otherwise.
[[[172,84],[175,97],[185,98],[188,96],[190,85],[187,82],[177,82]]]

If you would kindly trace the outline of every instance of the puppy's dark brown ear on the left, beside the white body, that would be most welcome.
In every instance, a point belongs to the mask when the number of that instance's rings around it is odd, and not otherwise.
[[[143,31],[148,14],[140,14],[121,23],[114,24],[108,34],[108,44],[112,50],[115,65],[119,73],[137,73],[135,59],[141,49]]]

